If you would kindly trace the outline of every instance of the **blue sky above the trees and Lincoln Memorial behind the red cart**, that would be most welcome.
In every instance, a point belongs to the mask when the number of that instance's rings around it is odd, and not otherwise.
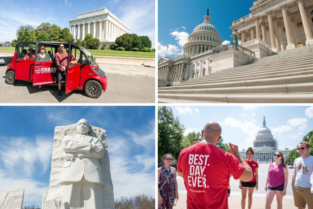
[[[78,13],[105,7],[131,29],[130,33],[148,36],[152,48],[156,43],[153,0],[0,0],[0,5],[0,42],[16,39],[20,25],[36,28],[42,22],[49,22],[62,29],[69,28],[69,19],[77,18]]]

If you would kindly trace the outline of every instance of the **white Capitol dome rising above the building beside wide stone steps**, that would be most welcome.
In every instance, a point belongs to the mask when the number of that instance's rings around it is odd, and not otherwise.
[[[188,36],[184,45],[184,55],[199,54],[222,45],[218,30],[210,23],[209,11],[204,16],[204,22],[197,25]]]

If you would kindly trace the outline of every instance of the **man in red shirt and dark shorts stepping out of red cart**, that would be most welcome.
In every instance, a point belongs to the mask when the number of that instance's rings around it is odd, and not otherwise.
[[[58,66],[58,81],[59,81],[58,97],[61,97],[61,84],[65,78],[64,72],[65,72],[65,69],[67,66],[67,59],[69,57],[69,54],[66,51],[64,51],[64,44],[59,43],[58,48],[59,48],[59,51],[57,53],[55,53],[54,57],[55,57],[55,61],[56,61],[57,66]]]

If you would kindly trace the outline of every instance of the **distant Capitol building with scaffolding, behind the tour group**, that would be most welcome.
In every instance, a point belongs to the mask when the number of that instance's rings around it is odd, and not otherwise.
[[[274,154],[278,151],[278,141],[273,138],[272,132],[266,127],[265,118],[262,128],[260,128],[253,141],[253,151],[253,158],[258,162],[272,162],[274,160]],[[285,148],[285,150],[280,151],[284,154],[286,160],[290,150]],[[239,154],[246,159],[246,151],[244,149]]]

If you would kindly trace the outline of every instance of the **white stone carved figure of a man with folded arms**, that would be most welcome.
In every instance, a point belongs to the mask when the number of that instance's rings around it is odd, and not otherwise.
[[[89,136],[86,119],[77,122],[77,135],[63,137],[66,162],[63,166],[61,209],[103,208],[104,180],[98,159],[104,155],[101,138]],[[101,197],[100,197],[101,196]]]

